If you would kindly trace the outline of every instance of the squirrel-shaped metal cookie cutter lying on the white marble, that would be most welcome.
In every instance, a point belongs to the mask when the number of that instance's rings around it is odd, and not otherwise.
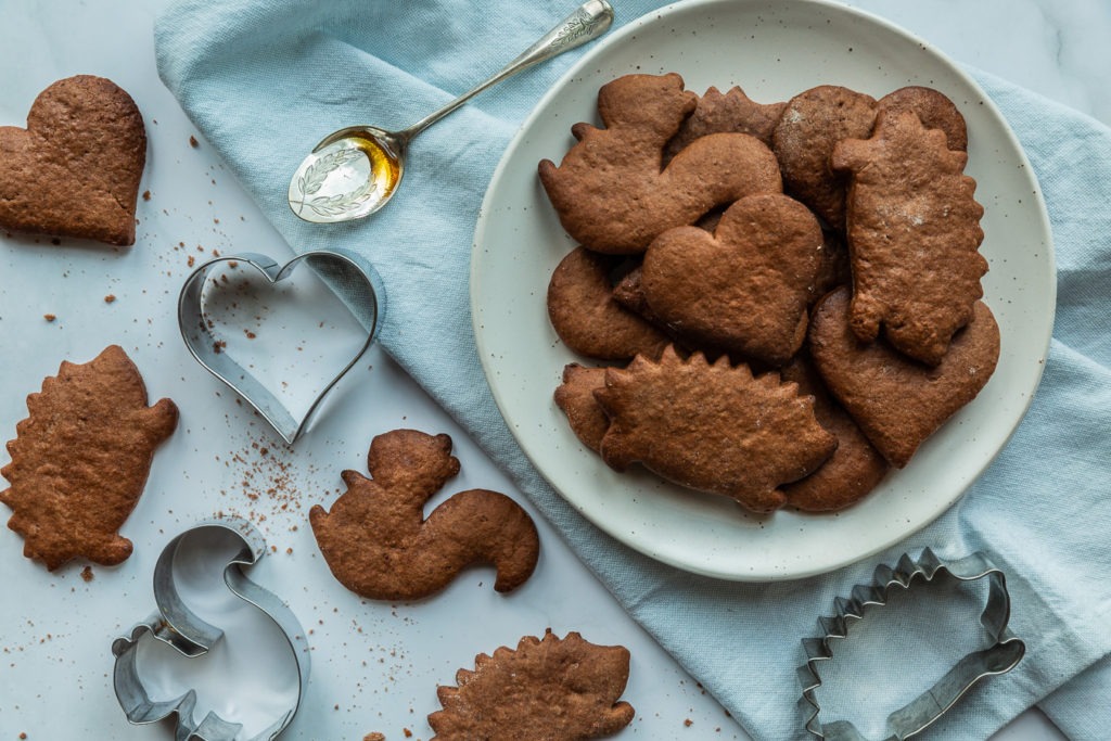
[[[297,663],[297,693],[292,704],[262,732],[250,741],[271,741],[292,722],[301,704],[301,697],[309,682],[309,644],[304,630],[293,612],[271,592],[262,589],[243,574],[243,568],[253,565],[266,553],[266,541],[251,523],[237,518],[202,522],[181,533],[169,542],[154,565],[154,602],[158,610],[144,622],[136,624],[127,637],[112,642],[116,657],[113,684],[116,697],[128,721],[132,724],[154,723],[177,714],[177,741],[199,739],[201,741],[234,741],[242,729],[209,712],[200,722],[193,718],[197,708],[197,692],[189,690],[172,700],[154,701],[148,694],[136,667],[138,647],[144,637],[157,639],[190,658],[200,657],[212,649],[223,638],[223,631],[209,624],[192,612],[182,600],[174,581],[173,563],[179,553],[188,548],[189,535],[204,529],[222,529],[231,533],[240,545],[239,551],[223,569],[223,581],[239,599],[262,610],[279,629],[289,643]]]

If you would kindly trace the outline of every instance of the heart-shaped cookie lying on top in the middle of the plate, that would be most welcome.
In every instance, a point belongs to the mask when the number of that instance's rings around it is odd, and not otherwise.
[[[779,193],[737,201],[710,232],[681,227],[644,254],[648,306],[678,337],[781,366],[802,346],[822,230]]]

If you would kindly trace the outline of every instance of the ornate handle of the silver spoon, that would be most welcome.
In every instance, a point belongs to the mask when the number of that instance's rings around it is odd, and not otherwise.
[[[418,133],[487,88],[498,84],[506,78],[512,77],[534,64],[548,61],[552,57],[558,57],[564,51],[570,51],[588,41],[597,39],[609,30],[611,23],[613,23],[613,8],[610,7],[610,3],[605,0],[588,0],[489,80],[464,92],[459,98],[456,98],[440,110],[424,117],[408,129],[399,131],[397,134],[398,138],[408,142]]]

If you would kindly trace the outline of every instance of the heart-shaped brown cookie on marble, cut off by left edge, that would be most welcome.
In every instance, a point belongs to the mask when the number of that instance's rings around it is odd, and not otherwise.
[[[134,244],[146,163],[147,131],[126,91],[89,74],[59,80],[27,129],[0,127],[0,227]]]

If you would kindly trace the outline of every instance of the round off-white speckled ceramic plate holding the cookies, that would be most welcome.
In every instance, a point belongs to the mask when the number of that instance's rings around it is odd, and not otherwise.
[[[547,316],[548,280],[574,248],[539,183],[559,162],[571,124],[598,123],[599,87],[621,74],[675,71],[687,88],[741,86],[754,100],[787,100],[822,83],[880,97],[905,84],[945,92],[969,128],[984,300],[1002,331],[995,374],[928,440],[911,463],[838,514],[754,517],[723,497],[650,473],[615,473],[571,433],[552,402],[565,363],[583,361]],[[931,522],[984,470],[1030,403],[1053,326],[1055,278],[1044,203],[1013,133],[979,86],[925,42],[872,16],[818,0],[692,0],[603,39],[543,97],[510,143],[474,237],[471,303],[494,398],[541,474],[590,521],[665,563],[713,577],[769,581],[832,570]],[[587,361],[589,363],[589,361]]]

